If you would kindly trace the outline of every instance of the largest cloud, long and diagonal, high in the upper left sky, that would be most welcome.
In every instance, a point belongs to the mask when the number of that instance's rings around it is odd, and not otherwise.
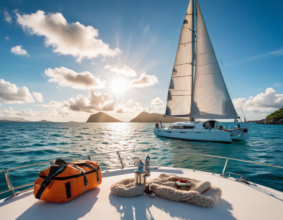
[[[78,62],[84,58],[113,57],[121,53],[120,49],[110,49],[108,44],[98,39],[98,30],[94,27],[84,26],[78,21],[68,23],[59,12],[45,14],[38,10],[23,15],[16,12],[16,16],[18,24],[27,33],[44,36],[46,47],[52,46],[55,53],[72,55]]]

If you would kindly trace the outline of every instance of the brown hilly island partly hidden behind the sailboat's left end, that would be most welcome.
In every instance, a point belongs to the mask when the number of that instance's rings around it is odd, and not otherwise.
[[[187,121],[186,118],[170,118],[170,117],[163,117],[164,114],[158,113],[148,113],[143,111],[137,117],[130,120],[130,122],[143,122],[143,123],[156,123],[158,121],[158,117],[161,123],[171,123],[171,122],[183,122]]]

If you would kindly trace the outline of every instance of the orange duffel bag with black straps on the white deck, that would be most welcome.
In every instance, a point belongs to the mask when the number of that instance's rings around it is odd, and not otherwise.
[[[57,159],[55,164],[39,173],[33,194],[48,202],[68,202],[99,184],[101,171],[97,161],[67,163]]]

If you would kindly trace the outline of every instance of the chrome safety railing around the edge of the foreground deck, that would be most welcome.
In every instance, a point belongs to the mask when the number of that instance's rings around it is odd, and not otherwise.
[[[116,153],[117,156],[118,156],[118,158],[119,158],[119,161],[120,161],[120,163],[121,163],[121,168],[123,169],[124,166],[126,165],[126,163],[123,163],[119,152],[133,151],[133,150],[137,150],[137,149],[115,150],[115,151],[109,151],[109,152],[104,152],[104,153],[88,154],[88,155],[83,155],[83,156],[76,156],[76,157],[65,158],[64,160],[67,160],[67,159],[74,159],[74,158],[86,158],[86,157],[90,160],[90,159],[91,159],[91,156]],[[247,161],[247,160],[242,160],[242,159],[228,158],[228,157],[216,156],[216,155],[209,155],[209,154],[197,154],[197,153],[187,153],[187,154],[194,154],[194,155],[201,155],[201,156],[208,156],[208,157],[215,157],[215,158],[223,158],[223,159],[226,159],[225,164],[224,164],[224,167],[223,167],[222,174],[220,174],[220,176],[222,176],[222,177],[226,177],[225,169],[226,169],[228,160],[236,160],[236,161],[242,161],[242,162],[246,162],[246,163],[254,163],[254,164],[264,165],[264,166],[268,166],[268,167],[276,167],[276,168],[281,168],[281,169],[283,169],[282,166],[277,166],[277,165],[272,165],[272,164],[267,164],[267,163],[260,163],[260,162],[256,162],[256,161]],[[7,192],[11,191],[11,192],[12,192],[11,197],[13,197],[13,196],[18,195],[18,193],[16,193],[16,192],[14,191],[15,189],[19,189],[19,188],[22,188],[22,187],[25,187],[25,186],[31,186],[31,185],[34,184],[34,182],[33,182],[33,183],[30,183],[30,184],[25,184],[25,185],[22,185],[22,186],[13,187],[12,181],[11,181],[11,178],[10,178],[10,175],[9,175],[9,171],[11,171],[11,170],[16,170],[16,169],[20,169],[20,168],[23,168],[23,167],[35,166],[35,165],[39,165],[39,164],[43,164],[43,163],[50,163],[50,164],[52,165],[54,161],[55,161],[55,160],[49,160],[49,161],[44,161],[44,162],[39,162],[39,163],[33,163],[33,164],[30,164],[30,165],[25,165],[25,166],[21,166],[21,167],[14,167],[14,168],[10,168],[10,169],[1,170],[0,173],[1,173],[1,172],[4,172],[4,173],[5,173],[5,178],[6,178],[7,186],[8,186],[9,189],[0,192],[0,194],[2,194],[2,193],[7,193]],[[133,161],[131,161],[131,162],[133,162]],[[131,162],[129,162],[128,164],[131,164]],[[237,174],[237,175],[239,175],[239,174]],[[25,191],[25,190],[24,190],[24,191]],[[22,191],[22,192],[24,192],[24,191]]]

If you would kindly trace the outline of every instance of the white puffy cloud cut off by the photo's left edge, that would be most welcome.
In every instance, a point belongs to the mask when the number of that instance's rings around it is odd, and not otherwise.
[[[5,103],[35,102],[27,87],[17,87],[4,79],[0,79],[0,100]]]

